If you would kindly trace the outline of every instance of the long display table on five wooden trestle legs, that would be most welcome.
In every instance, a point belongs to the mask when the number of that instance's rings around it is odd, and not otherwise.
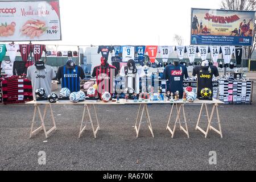
[[[35,136],[36,134],[39,133],[39,131],[44,131],[44,134],[46,135],[46,138],[48,138],[48,135],[50,133],[52,133],[53,131],[56,131],[56,123],[55,123],[55,118],[53,116],[53,111],[52,111],[52,105],[84,105],[84,110],[83,110],[83,114],[82,114],[82,121],[81,121],[81,126],[80,126],[80,131],[79,131],[79,138],[81,137],[81,134],[85,131],[86,129],[86,125],[90,124],[92,126],[92,130],[93,130],[93,135],[94,138],[97,137],[97,133],[100,130],[100,125],[98,122],[98,117],[97,117],[97,111],[96,111],[96,105],[139,105],[139,109],[138,109],[138,114],[137,114],[137,118],[135,121],[135,131],[137,133],[137,138],[139,137],[139,131],[141,129],[141,125],[143,123],[147,123],[148,129],[150,130],[152,137],[154,138],[154,133],[153,133],[153,129],[152,129],[152,125],[151,125],[151,119],[150,119],[150,114],[148,112],[148,105],[152,105],[152,104],[168,104],[171,106],[171,111],[170,111],[170,117],[168,119],[168,123],[167,123],[167,130],[170,131],[170,133],[172,134],[172,138],[174,137],[175,134],[175,130],[176,130],[176,125],[179,122],[180,125],[180,130],[184,131],[185,134],[187,134],[188,138],[189,138],[189,133],[188,133],[188,126],[187,126],[187,119],[186,119],[186,114],[185,114],[185,109],[184,109],[184,105],[201,105],[201,110],[200,110],[200,114],[199,114],[199,118],[197,120],[197,125],[196,125],[196,130],[200,130],[203,134],[205,134],[205,138],[207,138],[207,135],[209,133],[209,130],[213,130],[216,131],[218,134],[221,135],[222,138],[222,131],[221,131],[221,123],[220,123],[220,116],[218,114],[218,105],[219,104],[224,104],[221,101],[215,100],[213,99],[213,101],[200,101],[200,100],[196,100],[195,102],[189,103],[189,102],[183,102],[182,100],[179,101],[175,101],[175,102],[170,102],[170,101],[142,101],[142,102],[133,102],[133,101],[129,101],[126,102],[126,100],[120,100],[120,103],[117,102],[102,102],[102,101],[98,101],[98,102],[78,102],[76,104],[71,103],[70,101],[58,101],[55,104],[50,104],[48,101],[31,101],[31,102],[27,102],[26,104],[30,104],[30,105],[34,105],[34,115],[33,115],[33,119],[32,119],[32,124],[31,124],[31,131],[30,131],[30,138]],[[40,106],[44,105],[44,113],[42,115]],[[213,105],[212,108],[212,112],[209,116],[208,114],[208,109],[207,109],[207,105]],[[92,119],[92,112],[90,111],[90,106],[93,107],[93,112],[96,116],[96,121],[93,122]],[[201,119],[201,115],[203,112],[203,108],[205,106],[205,109],[207,110],[207,118],[208,118],[208,127],[207,130],[204,131],[203,129],[201,129],[201,127],[199,127],[200,124],[200,119]],[[181,108],[182,108],[182,113],[183,113],[183,117],[184,117],[184,123],[185,123],[185,128],[183,126],[181,126]],[[52,120],[52,128],[49,131],[46,131],[46,126],[44,124],[44,120],[46,118],[46,113],[47,110],[49,109],[50,111],[50,116],[51,116],[51,120]],[[174,122],[171,121],[171,117],[172,115],[174,115],[174,109],[176,109],[177,114],[176,114],[176,120]],[[35,117],[36,117],[36,113],[39,113],[39,118],[41,121],[41,126],[38,129],[34,130],[34,124],[35,124]],[[217,114],[217,119],[218,119],[218,126],[219,126],[219,130],[215,129],[212,126],[212,119],[213,119],[213,114],[214,111],[216,110],[216,114]],[[86,119],[86,113],[88,114],[88,120],[89,121],[85,121]],[[146,115],[146,122],[143,121],[143,115]],[[171,124],[174,124],[174,127],[171,129]],[[96,125],[96,127],[94,127],[94,125]]]

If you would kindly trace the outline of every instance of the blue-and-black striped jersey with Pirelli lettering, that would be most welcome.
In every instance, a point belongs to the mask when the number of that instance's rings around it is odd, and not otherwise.
[[[67,65],[60,67],[57,72],[57,79],[61,79],[61,88],[68,88],[71,92],[78,92],[80,90],[80,78],[84,79],[84,70],[75,66],[74,68],[67,68]]]

